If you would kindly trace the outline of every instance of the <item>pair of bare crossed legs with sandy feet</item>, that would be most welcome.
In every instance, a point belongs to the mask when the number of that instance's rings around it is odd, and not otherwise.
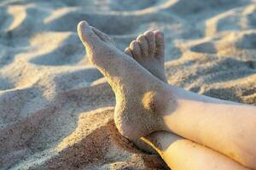
[[[113,88],[122,135],[143,139],[172,169],[256,169],[256,107],[168,85],[160,31],[137,37],[125,53],[86,21],[78,32]]]

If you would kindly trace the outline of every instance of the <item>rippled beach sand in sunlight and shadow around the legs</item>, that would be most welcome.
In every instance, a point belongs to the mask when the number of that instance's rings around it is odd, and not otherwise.
[[[256,105],[253,0],[3,0],[1,170],[167,169],[119,135],[113,92],[86,59],[80,20],[122,50],[143,31],[160,29],[169,83]]]

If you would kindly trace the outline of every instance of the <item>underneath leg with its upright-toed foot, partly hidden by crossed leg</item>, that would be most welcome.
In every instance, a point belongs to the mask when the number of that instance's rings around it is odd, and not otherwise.
[[[152,38],[152,36],[154,38]],[[143,41],[142,39],[147,41]],[[149,44],[148,39],[151,41],[151,44]],[[155,44],[152,42],[155,42]],[[145,51],[148,50],[148,48],[153,48],[154,50]],[[130,47],[125,48],[125,54],[136,59],[140,65],[143,65],[143,67],[151,72],[155,77],[159,78],[163,82],[167,82],[164,67],[165,42],[162,32],[144,32],[142,35],[137,37],[137,40],[131,42]],[[155,67],[158,68],[155,69]],[[229,157],[219,154],[215,150],[211,150],[201,144],[196,144],[188,139],[183,139],[173,133],[158,131],[141,139],[154,148],[154,150],[160,154],[162,159],[166,161],[166,164],[168,164],[172,169],[248,169]],[[137,144],[137,141],[135,142]],[[137,144],[137,146],[141,147],[143,150],[147,150],[147,147],[140,143]]]

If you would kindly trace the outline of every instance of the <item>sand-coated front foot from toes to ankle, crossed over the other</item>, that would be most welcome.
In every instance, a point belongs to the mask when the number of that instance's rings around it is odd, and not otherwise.
[[[128,139],[138,139],[166,129],[163,116],[157,113],[165,113],[170,106],[176,106],[169,86],[115,48],[107,35],[90,27],[86,21],[79,23],[78,32],[90,62],[113,88],[116,96],[114,121],[119,132]]]

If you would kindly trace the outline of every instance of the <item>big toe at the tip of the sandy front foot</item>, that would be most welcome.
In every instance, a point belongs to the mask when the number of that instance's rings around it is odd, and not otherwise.
[[[86,48],[96,48],[94,46],[97,44],[97,42],[99,42],[100,39],[96,36],[94,31],[91,30],[89,24],[86,21],[79,22],[78,33]]]

